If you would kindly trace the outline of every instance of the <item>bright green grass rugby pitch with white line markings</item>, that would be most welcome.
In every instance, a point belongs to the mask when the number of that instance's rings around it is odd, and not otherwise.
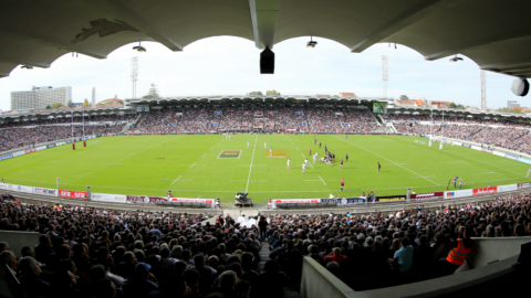
[[[225,136],[124,136],[98,138],[83,148],[72,146],[48,149],[0,161],[0,177],[21,185],[93,192],[166,196],[171,190],[179,198],[220,198],[233,201],[239,191],[248,191],[256,202],[268,199],[358,196],[371,190],[376,195],[404,194],[408,187],[417,193],[444,191],[448,180],[458,175],[464,189],[530,181],[530,166],[507,158],[458,146],[438,143],[429,148],[427,139],[400,136],[313,136],[236,135]],[[250,146],[247,148],[247,141]],[[263,148],[264,142],[268,149]],[[302,173],[309,149],[324,155],[324,145],[336,155],[336,162],[312,164]],[[269,147],[285,150],[291,158],[268,158]],[[223,150],[238,151],[220,156]],[[340,168],[339,160],[350,161]],[[382,164],[377,172],[376,162]],[[454,189],[452,187],[450,189]]]

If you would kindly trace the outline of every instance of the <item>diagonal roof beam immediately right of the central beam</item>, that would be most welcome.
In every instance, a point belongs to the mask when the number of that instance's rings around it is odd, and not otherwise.
[[[395,34],[404,28],[418,22],[419,20],[428,17],[429,14],[437,12],[440,9],[452,7],[464,0],[431,0],[420,1],[416,6],[412,6],[403,13],[396,15],[393,20],[376,29],[373,33],[368,34],[364,40],[351,47],[351,52],[361,53],[372,46],[375,43]]]

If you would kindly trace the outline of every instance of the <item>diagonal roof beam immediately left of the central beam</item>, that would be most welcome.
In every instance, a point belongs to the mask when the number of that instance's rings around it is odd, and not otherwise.
[[[144,20],[136,12],[131,10],[127,6],[123,4],[119,0],[101,0],[102,9],[114,14],[116,19],[128,23],[129,25],[138,29],[144,34],[148,35],[153,40],[164,44],[169,50],[177,52],[183,51],[183,46],[167,36],[164,32],[156,29],[153,24]],[[97,6],[97,4],[96,4]]]

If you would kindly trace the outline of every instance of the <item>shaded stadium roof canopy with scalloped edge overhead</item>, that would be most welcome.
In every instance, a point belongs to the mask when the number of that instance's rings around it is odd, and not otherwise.
[[[138,41],[184,51],[232,35],[273,49],[312,35],[355,53],[378,42],[407,45],[427,60],[460,53],[483,70],[529,77],[530,11],[529,0],[2,1],[0,76],[18,65],[49,67],[70,52],[105,58]]]

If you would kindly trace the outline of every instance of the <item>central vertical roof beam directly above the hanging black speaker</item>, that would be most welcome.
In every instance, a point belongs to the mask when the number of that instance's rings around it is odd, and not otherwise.
[[[273,49],[280,0],[249,0],[254,44]]]

